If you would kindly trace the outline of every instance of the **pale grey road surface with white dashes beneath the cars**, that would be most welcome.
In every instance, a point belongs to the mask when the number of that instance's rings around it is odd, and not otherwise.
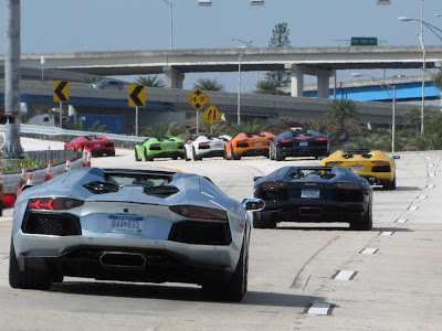
[[[22,139],[27,149],[49,142]],[[50,142],[59,148],[60,142]],[[66,278],[50,291],[9,287],[12,211],[0,217],[1,330],[440,330],[442,151],[398,153],[396,191],[375,190],[373,228],[283,223],[253,229],[249,291],[240,303],[207,301],[197,286]],[[264,158],[136,162],[133,150],[93,167],[166,167],[210,177],[252,196],[253,177],[287,164]]]

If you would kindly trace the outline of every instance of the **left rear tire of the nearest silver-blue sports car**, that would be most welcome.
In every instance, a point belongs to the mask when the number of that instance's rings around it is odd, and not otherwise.
[[[50,289],[52,286],[51,274],[44,270],[24,270],[20,271],[19,261],[15,257],[15,249],[11,238],[9,250],[9,285],[12,288],[24,289]]]

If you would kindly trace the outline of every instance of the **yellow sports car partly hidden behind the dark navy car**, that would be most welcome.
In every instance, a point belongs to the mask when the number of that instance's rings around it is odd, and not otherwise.
[[[323,167],[344,167],[365,178],[371,185],[396,190],[396,163],[399,156],[390,158],[380,150],[337,150],[320,161]]]

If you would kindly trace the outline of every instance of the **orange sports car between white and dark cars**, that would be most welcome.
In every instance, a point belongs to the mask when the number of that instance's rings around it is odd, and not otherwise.
[[[264,156],[269,158],[270,140],[276,136],[271,132],[238,134],[224,143],[224,159],[241,160],[241,157]]]

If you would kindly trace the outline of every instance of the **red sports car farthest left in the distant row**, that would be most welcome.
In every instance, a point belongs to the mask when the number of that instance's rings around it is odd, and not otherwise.
[[[84,147],[91,149],[92,156],[115,156],[114,140],[104,136],[81,136],[64,143],[64,149],[69,150],[83,151]]]

